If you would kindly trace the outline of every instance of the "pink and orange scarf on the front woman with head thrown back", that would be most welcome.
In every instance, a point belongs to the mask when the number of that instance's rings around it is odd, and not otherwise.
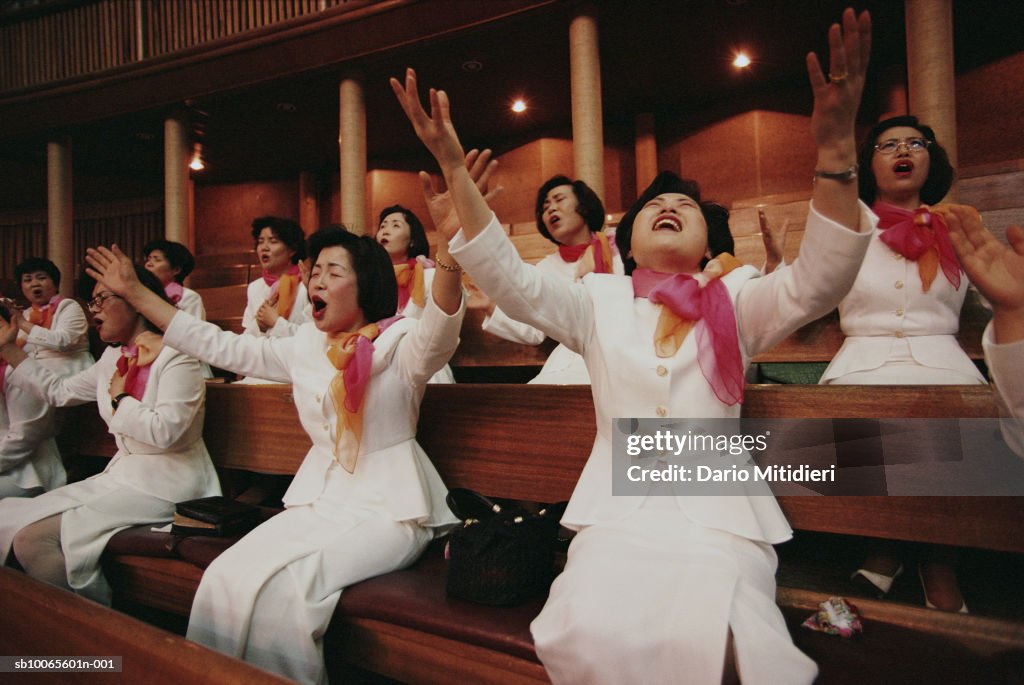
[[[712,260],[709,266],[717,261]],[[732,298],[720,275],[721,271],[714,274],[701,288],[697,279],[686,273],[637,268],[633,271],[633,293],[664,305],[654,332],[655,353],[659,357],[674,355],[693,329],[700,373],[715,396],[731,405],[743,401],[743,360]]]

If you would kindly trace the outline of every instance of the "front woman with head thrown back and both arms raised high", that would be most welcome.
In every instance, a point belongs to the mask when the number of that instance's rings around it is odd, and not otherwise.
[[[462,224],[445,233],[453,257],[509,315],[580,352],[590,371],[597,436],[562,518],[579,532],[530,627],[556,685],[718,683],[735,675],[733,656],[748,683],[816,675],[775,605],[771,545],[792,531],[774,499],[745,488],[679,497],[668,483],[612,497],[611,429],[623,417],[738,417],[750,357],[827,312],[852,285],[872,227],[854,182],[867,13],[847,10],[828,44],[829,78],[815,55],[807,58],[818,159],[801,256],[764,277],[718,254],[730,242],[724,210],[668,173],[618,226],[632,277],[565,284],[539,274],[461,170],[446,94],[430,91],[427,115],[415,73],[404,84],[392,80],[451,189]]]

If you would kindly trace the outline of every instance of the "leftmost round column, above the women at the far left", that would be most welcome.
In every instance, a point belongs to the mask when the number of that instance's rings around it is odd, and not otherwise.
[[[46,143],[46,258],[60,269],[60,294],[75,295],[71,138]]]

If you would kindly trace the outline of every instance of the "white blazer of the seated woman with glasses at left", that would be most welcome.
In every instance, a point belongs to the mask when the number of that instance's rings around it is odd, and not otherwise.
[[[111,405],[111,378],[121,350],[109,347],[99,361],[69,378],[27,359],[8,381],[56,406],[95,401],[118,452],[100,476],[168,502],[220,495],[217,472],[203,442],[206,383],[199,361],[166,344],[153,361],[142,400]]]

